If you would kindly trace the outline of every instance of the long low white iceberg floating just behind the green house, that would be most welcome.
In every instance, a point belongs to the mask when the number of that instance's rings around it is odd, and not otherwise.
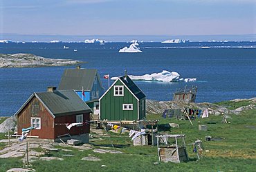
[[[158,81],[158,82],[195,82],[196,78],[179,78],[180,74],[178,72],[169,72],[167,70],[163,70],[159,73],[153,73],[153,74],[145,74],[142,76],[134,76],[129,75],[131,80],[147,80],[147,81]],[[111,80],[116,80],[118,77],[112,77]]]

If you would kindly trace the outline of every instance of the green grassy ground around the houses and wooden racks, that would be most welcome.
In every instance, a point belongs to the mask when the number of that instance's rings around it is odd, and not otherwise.
[[[37,171],[255,171],[256,164],[256,110],[246,111],[239,116],[228,119],[230,123],[221,123],[222,116],[210,116],[207,119],[193,120],[193,126],[188,120],[164,119],[160,115],[148,116],[148,119],[159,119],[161,132],[183,133],[190,157],[189,162],[174,164],[172,162],[154,164],[158,162],[157,148],[152,146],[134,147],[130,138],[125,134],[109,131],[109,137],[92,139],[93,148],[109,147],[122,151],[122,154],[94,153],[92,150],[58,151],[51,156],[64,158],[63,161],[36,161],[31,168]],[[163,126],[174,122],[180,128],[166,129]],[[207,125],[208,131],[199,131],[199,125]],[[217,138],[216,141],[205,141],[205,136]],[[195,140],[203,141],[203,158],[196,160],[192,152],[191,143]],[[58,147],[60,148],[60,147]],[[113,148],[112,148],[113,149]],[[205,150],[208,150],[206,152]],[[73,154],[65,157],[64,154]],[[100,162],[83,161],[82,158],[93,155],[100,158]],[[0,171],[13,167],[22,167],[20,158],[0,159]],[[107,167],[101,167],[106,165]]]

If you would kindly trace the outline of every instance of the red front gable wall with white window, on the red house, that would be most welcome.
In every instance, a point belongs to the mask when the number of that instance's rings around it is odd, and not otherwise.
[[[33,105],[39,105],[38,113],[35,113],[35,111],[33,110]],[[22,129],[30,127],[31,117],[41,118],[41,129],[33,129],[30,133],[31,136],[39,136],[39,138],[54,139],[53,116],[51,116],[48,110],[35,96],[17,115],[18,134],[22,133]]]

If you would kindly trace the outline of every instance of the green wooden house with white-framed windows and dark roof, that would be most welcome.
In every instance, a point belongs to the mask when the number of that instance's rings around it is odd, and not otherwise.
[[[119,77],[99,99],[100,119],[141,120],[145,117],[145,94],[129,78]]]

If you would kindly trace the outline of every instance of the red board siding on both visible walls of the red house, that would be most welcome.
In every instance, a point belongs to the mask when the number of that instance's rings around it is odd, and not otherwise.
[[[39,113],[33,114],[33,105],[39,105]],[[18,134],[22,133],[22,129],[30,127],[30,118],[41,118],[41,129],[33,129],[31,136],[39,136],[39,138],[55,139],[65,133],[71,136],[90,132],[90,125],[82,125],[81,127],[71,127],[70,130],[66,125],[55,125],[60,123],[76,122],[76,114],[69,116],[60,116],[53,118],[44,105],[34,96],[30,102],[17,115]],[[84,121],[89,121],[89,113],[84,114]]]

